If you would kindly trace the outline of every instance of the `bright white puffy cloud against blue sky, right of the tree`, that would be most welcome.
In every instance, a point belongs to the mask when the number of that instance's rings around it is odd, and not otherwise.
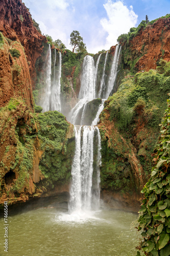
[[[104,4],[107,12],[107,18],[101,19],[101,25],[108,36],[106,38],[105,48],[116,45],[117,37],[120,34],[128,33],[130,28],[135,27],[138,15],[134,13],[133,7],[128,8],[123,1],[112,2],[108,0]]]

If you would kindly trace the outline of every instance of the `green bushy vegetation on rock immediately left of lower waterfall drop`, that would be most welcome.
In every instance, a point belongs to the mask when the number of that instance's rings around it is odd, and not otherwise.
[[[57,111],[35,114],[34,117],[38,126],[38,138],[44,151],[39,168],[49,184],[64,178],[66,181],[70,177],[75,144],[74,141],[65,139],[69,124]]]

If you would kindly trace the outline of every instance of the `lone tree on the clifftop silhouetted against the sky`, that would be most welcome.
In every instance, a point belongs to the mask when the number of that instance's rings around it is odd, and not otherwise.
[[[70,45],[73,46],[72,52],[75,52],[75,49],[77,49],[77,52],[82,52],[82,50],[86,50],[86,46],[83,43],[83,37],[80,36],[79,31],[74,30],[70,34]]]

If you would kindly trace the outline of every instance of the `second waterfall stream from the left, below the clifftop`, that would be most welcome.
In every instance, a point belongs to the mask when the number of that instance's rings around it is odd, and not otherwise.
[[[57,66],[56,72],[56,49],[55,51],[55,61],[54,61],[54,80],[53,80],[53,87],[51,90],[51,110],[57,110],[61,112],[61,102],[60,102],[60,92],[61,92],[61,53],[59,52],[59,63]]]

